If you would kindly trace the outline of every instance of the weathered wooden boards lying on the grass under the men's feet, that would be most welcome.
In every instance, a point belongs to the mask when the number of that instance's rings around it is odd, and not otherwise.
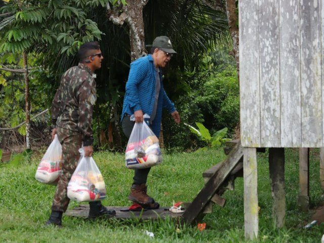
[[[126,209],[128,207],[112,207],[106,206],[109,210],[113,209],[116,211],[116,215],[112,218],[115,219],[141,219],[141,220],[156,220],[156,219],[165,219],[169,218],[179,218],[183,213],[172,213],[169,211],[169,208],[160,207],[159,209],[147,210],[143,212],[121,212],[120,209]],[[87,218],[89,214],[89,205],[82,204],[73,210],[68,210],[65,212],[65,215],[72,217],[81,217]]]

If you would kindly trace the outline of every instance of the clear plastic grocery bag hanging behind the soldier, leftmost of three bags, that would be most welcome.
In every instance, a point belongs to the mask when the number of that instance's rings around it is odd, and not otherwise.
[[[57,184],[62,169],[62,145],[55,134],[54,140],[39,163],[35,179],[46,184]]]

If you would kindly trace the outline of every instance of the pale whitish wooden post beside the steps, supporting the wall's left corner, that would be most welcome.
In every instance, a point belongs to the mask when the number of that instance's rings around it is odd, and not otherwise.
[[[244,148],[244,231],[245,237],[258,237],[258,168],[256,148]]]

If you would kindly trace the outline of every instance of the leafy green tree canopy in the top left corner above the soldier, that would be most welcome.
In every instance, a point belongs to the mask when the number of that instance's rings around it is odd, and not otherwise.
[[[43,0],[37,5],[33,1],[21,5],[11,1],[0,9],[1,13],[10,14],[0,22],[0,51],[20,53],[28,49],[74,55],[79,43],[101,39],[102,32],[87,14],[92,7],[103,4],[104,1]]]

